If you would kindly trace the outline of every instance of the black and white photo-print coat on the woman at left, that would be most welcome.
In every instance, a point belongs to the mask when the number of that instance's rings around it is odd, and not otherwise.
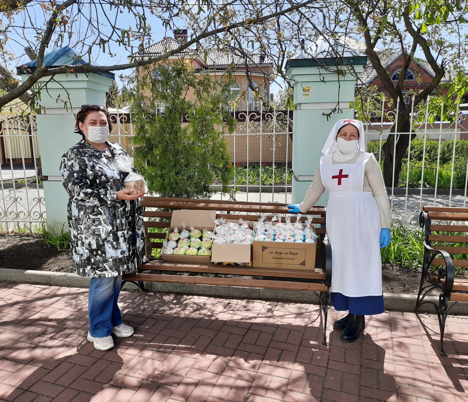
[[[113,162],[117,155],[127,153],[120,144],[108,144],[108,150],[98,151],[81,140],[63,154],[60,164],[62,183],[70,196],[67,213],[73,268],[80,276],[134,272],[135,256],[146,262],[143,208],[138,200],[116,197],[128,173],[119,171]]]

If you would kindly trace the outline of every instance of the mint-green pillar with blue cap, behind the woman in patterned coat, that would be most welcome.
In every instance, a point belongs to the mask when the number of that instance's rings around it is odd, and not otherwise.
[[[86,64],[78,57],[80,53],[65,46],[44,56],[44,65],[79,65]],[[25,81],[32,74],[37,60],[17,67]],[[50,77],[39,80],[44,85]],[[42,166],[42,174],[47,176],[44,181],[45,211],[47,226],[54,230],[68,230],[66,206],[68,194],[62,186],[60,176],[60,160],[66,150],[80,141],[81,136],[75,134],[75,115],[81,105],[105,105],[105,95],[114,80],[114,74],[77,73],[58,74],[47,84],[47,89],[41,91],[41,110],[37,110],[37,136]],[[66,101],[66,105],[64,103]]]

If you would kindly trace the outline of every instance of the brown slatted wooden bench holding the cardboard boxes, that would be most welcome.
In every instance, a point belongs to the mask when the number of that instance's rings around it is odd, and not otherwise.
[[[241,201],[214,201],[193,200],[183,198],[144,197],[141,205],[145,207],[143,216],[156,218],[145,222],[146,252],[150,256],[152,250],[162,248],[162,239],[166,233],[152,233],[148,228],[168,228],[174,209],[198,209],[217,211],[217,218],[242,218],[244,221],[257,221],[261,213],[287,214],[286,204],[241,202]],[[148,208],[156,208],[149,210]],[[295,222],[295,214],[291,214],[291,222]],[[315,267],[310,270],[269,269],[250,266],[222,266],[222,265],[189,265],[163,262],[161,259],[151,258],[146,264],[138,266],[138,276],[135,273],[124,275],[123,280],[136,283],[144,290],[143,282],[170,282],[189,283],[197,285],[218,285],[234,287],[261,287],[270,289],[290,289],[314,292],[320,302],[321,314],[323,312],[323,344],[326,345],[326,323],[329,302],[329,286],[331,285],[331,247],[323,243],[325,236],[325,208],[314,207],[307,215],[314,215],[312,223],[316,225],[317,252]],[[301,221],[306,220],[306,216]],[[267,219],[271,219],[271,216]],[[285,222],[284,217],[282,221]],[[214,223],[213,223],[214,226]],[[156,241],[152,241],[155,239]],[[141,271],[155,271],[154,273],[141,273]],[[167,274],[165,272],[179,274]],[[180,273],[190,273],[189,276]],[[193,275],[204,273],[205,276]],[[206,273],[212,274],[206,276]],[[226,275],[245,275],[261,277],[262,279],[243,279],[226,277]],[[273,278],[273,279],[269,279]],[[289,280],[288,280],[289,279]],[[300,279],[293,281],[291,279]]]

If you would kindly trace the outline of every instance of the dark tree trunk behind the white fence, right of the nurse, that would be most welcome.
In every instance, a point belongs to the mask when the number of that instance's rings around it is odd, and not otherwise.
[[[410,133],[410,120],[409,113],[402,113],[398,116],[398,126],[395,127],[393,132]],[[416,134],[411,134],[413,139]],[[398,137],[397,137],[398,138]],[[389,134],[387,141],[382,146],[385,159],[383,162],[383,179],[385,181],[385,187],[398,187],[398,178],[402,170],[402,158],[408,149],[409,138],[406,135],[400,135],[397,139],[395,146],[395,134]],[[394,155],[395,152],[395,155]],[[393,164],[395,159],[395,175],[393,173]]]

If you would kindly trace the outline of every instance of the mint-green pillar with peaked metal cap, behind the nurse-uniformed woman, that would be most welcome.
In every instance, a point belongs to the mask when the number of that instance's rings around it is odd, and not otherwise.
[[[354,101],[356,75],[366,63],[367,56],[346,48],[335,39],[327,42],[323,37],[288,61],[286,74],[294,87],[294,104],[297,105],[293,112],[293,204],[304,199],[314,180],[322,147],[336,120],[354,118],[350,102]],[[302,88],[306,86],[310,86],[311,91],[304,96]],[[329,117],[325,115],[335,108],[335,113]],[[325,193],[318,205],[327,205],[327,202]]]

